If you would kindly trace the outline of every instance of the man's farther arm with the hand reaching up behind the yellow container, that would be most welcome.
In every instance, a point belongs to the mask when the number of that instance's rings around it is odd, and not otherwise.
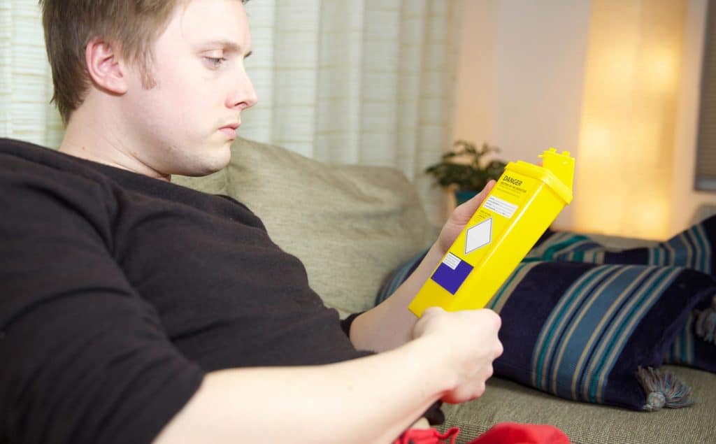
[[[410,341],[417,317],[407,309],[407,306],[422,284],[430,278],[430,274],[442,260],[442,256],[445,256],[455,239],[458,238],[460,231],[470,221],[473,213],[478,210],[480,203],[485,200],[494,185],[494,180],[490,180],[477,196],[455,208],[450,220],[442,227],[437,241],[432,244],[425,259],[420,262],[410,277],[382,304],[354,319],[351,324],[350,338],[357,349],[384,352]]]

